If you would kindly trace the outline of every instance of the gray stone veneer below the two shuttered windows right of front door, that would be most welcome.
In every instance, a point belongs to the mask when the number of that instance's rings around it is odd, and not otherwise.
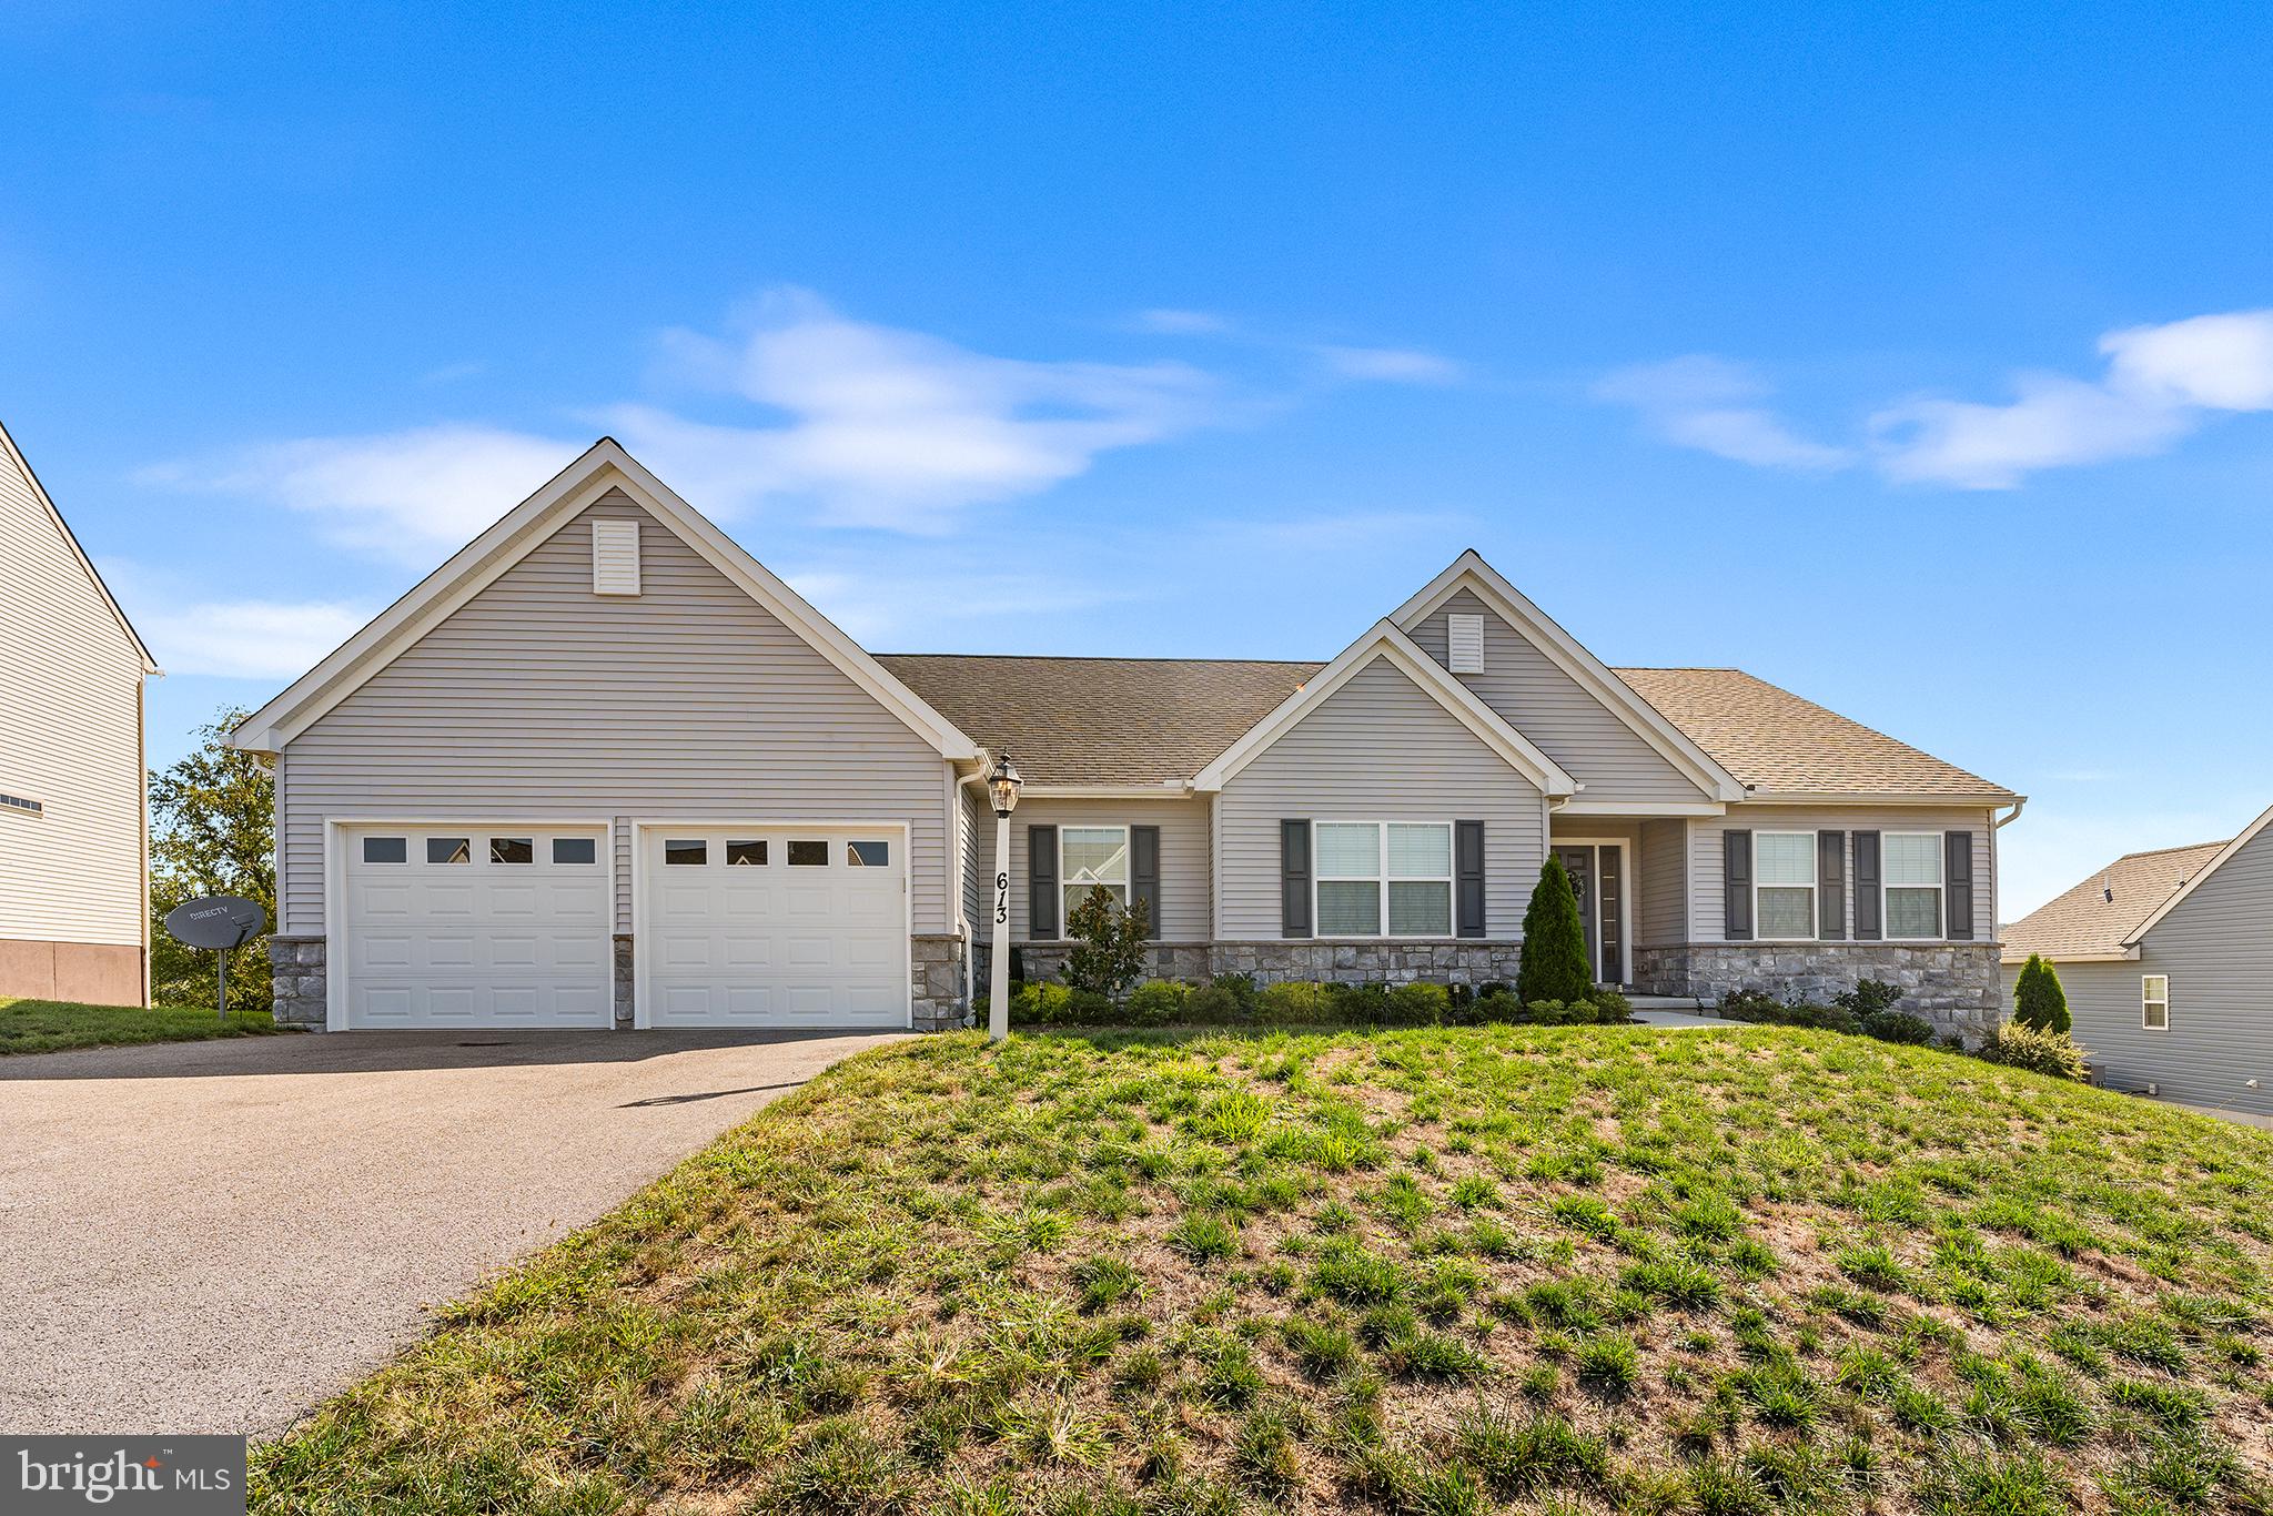
[[[1980,1039],[2003,1011],[1993,943],[1684,943],[1634,948],[1634,989],[1714,1002],[1737,989],[1830,1005],[1857,980],[1903,991],[1937,1032]]]

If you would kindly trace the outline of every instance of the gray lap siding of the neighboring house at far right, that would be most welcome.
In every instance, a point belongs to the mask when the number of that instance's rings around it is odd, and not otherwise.
[[[2273,830],[2164,916],[2137,961],[2057,968],[2075,1041],[2109,1084],[2273,1116]],[[2139,977],[2150,973],[2171,977],[2168,1032],[2139,1025]]]

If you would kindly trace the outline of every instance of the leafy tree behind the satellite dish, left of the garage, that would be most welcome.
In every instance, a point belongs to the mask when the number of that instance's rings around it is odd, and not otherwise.
[[[173,907],[198,896],[243,896],[275,930],[275,780],[250,752],[223,745],[245,711],[223,707],[198,727],[198,750],[150,773],[150,1000],[211,1005],[214,955],[166,932]],[[268,939],[230,955],[230,1009],[266,1011]]]

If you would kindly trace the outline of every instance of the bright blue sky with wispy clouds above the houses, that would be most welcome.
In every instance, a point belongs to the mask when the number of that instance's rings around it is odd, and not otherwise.
[[[0,418],[157,764],[611,432],[877,650],[1475,545],[2030,793],[2007,916],[2273,802],[2264,7],[511,9],[9,7]]]

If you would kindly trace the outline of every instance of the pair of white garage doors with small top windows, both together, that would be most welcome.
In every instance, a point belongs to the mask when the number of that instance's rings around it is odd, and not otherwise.
[[[341,825],[334,1025],[616,1025],[611,836]],[[907,1025],[905,827],[659,821],[627,836],[636,1025]]]

